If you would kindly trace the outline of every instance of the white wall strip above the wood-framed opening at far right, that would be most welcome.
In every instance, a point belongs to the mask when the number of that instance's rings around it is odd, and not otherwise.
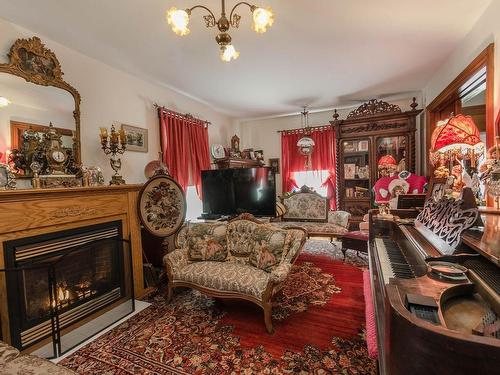
[[[424,101],[432,102],[490,43],[495,43],[494,116],[500,110],[500,0],[492,0],[474,27],[434,74],[424,89]]]

